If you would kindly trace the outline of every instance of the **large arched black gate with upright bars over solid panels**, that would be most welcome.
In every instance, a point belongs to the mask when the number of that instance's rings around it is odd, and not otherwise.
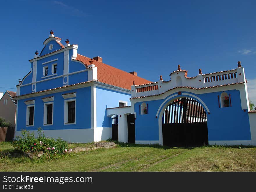
[[[163,145],[208,145],[207,116],[193,98],[179,98],[168,105],[162,119]]]

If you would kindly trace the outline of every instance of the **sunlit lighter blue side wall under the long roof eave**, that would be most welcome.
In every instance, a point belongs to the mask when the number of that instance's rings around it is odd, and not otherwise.
[[[118,107],[118,101],[127,101],[130,106],[129,98],[130,94],[96,87],[97,127],[111,127],[111,117],[106,116],[106,108]]]

